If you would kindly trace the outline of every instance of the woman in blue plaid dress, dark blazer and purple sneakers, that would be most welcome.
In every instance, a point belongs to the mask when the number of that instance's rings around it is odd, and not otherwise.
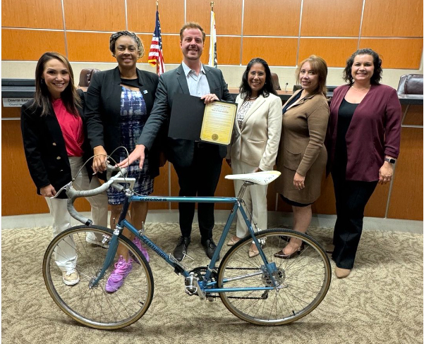
[[[150,116],[159,77],[136,67],[137,60],[144,54],[140,38],[133,32],[119,31],[111,35],[109,49],[116,58],[118,67],[95,73],[92,76],[87,90],[87,131],[91,147],[95,152],[93,171],[106,169],[106,157],[109,154],[113,161],[119,163],[126,159],[128,152],[135,148],[135,142],[143,130],[147,118]],[[143,169],[138,163],[128,166],[128,177],[136,178],[134,191],[137,194],[149,195],[153,191],[153,178],[159,174],[159,154],[150,150],[147,164]],[[109,204],[111,205],[111,228],[116,226],[115,220],[121,213],[125,195],[114,189],[108,190]],[[131,203],[131,223],[135,228],[142,228],[147,216],[147,202]],[[132,238],[128,229],[123,234],[133,239],[135,245],[145,255],[149,255],[138,238]],[[106,290],[113,293],[121,287],[124,278],[132,269],[132,259],[125,247],[118,247],[119,261],[116,269],[109,276]]]

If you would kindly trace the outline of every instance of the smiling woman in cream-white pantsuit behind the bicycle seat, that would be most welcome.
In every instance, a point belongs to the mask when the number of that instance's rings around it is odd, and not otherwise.
[[[255,58],[248,63],[236,103],[238,110],[226,161],[234,174],[271,171],[274,168],[281,134],[282,104],[274,90],[271,70],[265,60]],[[242,183],[240,180],[234,180],[236,195]],[[256,227],[266,229],[267,185],[249,186],[243,199]],[[246,223],[238,216],[236,235],[227,245],[235,245],[246,235]],[[249,257],[259,254],[255,244],[251,245],[248,254]]]

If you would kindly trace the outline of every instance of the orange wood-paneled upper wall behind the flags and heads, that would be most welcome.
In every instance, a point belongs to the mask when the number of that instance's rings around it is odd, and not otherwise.
[[[382,55],[383,68],[420,66],[423,0],[214,2],[221,65],[245,65],[261,56],[270,66],[296,66],[317,54],[329,67],[343,67],[353,51],[370,47]],[[192,20],[209,34],[210,1],[159,3],[165,63],[180,63],[179,30]],[[109,36],[117,30],[137,32],[148,50],[155,6],[155,0],[4,0],[2,58],[36,61],[54,50],[71,61],[111,62]],[[209,39],[204,62],[208,47]],[[147,63],[147,56],[141,63]]]

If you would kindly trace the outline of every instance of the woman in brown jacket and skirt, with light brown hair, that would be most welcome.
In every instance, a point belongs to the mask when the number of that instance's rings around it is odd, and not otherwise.
[[[276,181],[276,190],[293,208],[293,230],[305,233],[312,219],[311,204],[320,197],[322,173],[327,163],[324,140],[329,106],[325,97],[327,63],[311,55],[299,66],[296,78],[302,89],[283,106],[277,156],[281,178]],[[292,238],[289,245],[274,256],[289,259],[301,250],[301,240]]]

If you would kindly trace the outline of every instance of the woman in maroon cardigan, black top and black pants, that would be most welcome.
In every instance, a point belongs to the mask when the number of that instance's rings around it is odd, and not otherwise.
[[[347,60],[344,80],[334,90],[327,129],[327,171],[332,173],[337,221],[334,270],[349,276],[363,227],[365,205],[377,183],[392,180],[399,155],[401,104],[396,90],[380,85],[380,56],[360,49]]]

